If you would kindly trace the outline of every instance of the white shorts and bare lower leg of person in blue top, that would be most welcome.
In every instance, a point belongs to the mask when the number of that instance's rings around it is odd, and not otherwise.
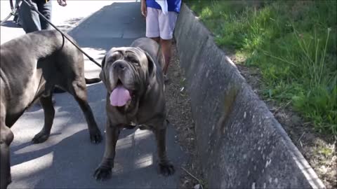
[[[165,64],[163,68],[166,76],[171,61],[171,46],[173,31],[176,26],[178,13],[169,11],[164,14],[162,10],[147,7],[146,36],[157,41],[161,46]]]

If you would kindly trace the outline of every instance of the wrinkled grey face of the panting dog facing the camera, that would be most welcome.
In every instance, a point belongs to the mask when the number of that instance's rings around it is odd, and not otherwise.
[[[112,106],[125,106],[142,94],[149,78],[147,55],[140,48],[112,48],[102,62],[100,78],[110,94]]]

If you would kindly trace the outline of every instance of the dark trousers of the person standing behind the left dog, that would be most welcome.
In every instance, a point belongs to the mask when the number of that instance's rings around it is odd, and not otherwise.
[[[29,0],[30,1],[30,0]],[[40,13],[51,21],[51,1],[30,1]],[[20,19],[22,21],[22,28],[26,33],[38,31],[41,29],[51,29],[51,26],[41,16],[32,10],[25,2],[20,6]]]

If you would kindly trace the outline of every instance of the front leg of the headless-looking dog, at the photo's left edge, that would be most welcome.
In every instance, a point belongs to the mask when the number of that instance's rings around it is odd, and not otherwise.
[[[11,129],[5,125],[6,109],[2,103],[0,114],[0,189],[5,189],[12,181],[9,145],[13,141],[14,135]]]

